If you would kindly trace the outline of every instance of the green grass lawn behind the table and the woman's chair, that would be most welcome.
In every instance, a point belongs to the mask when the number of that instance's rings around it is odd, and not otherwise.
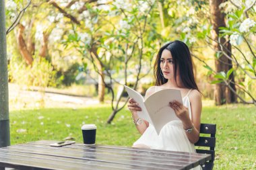
[[[201,122],[217,124],[214,169],[256,169],[256,107],[253,105],[205,106]],[[34,140],[82,142],[82,124],[96,124],[96,143],[131,146],[139,138],[128,110],[119,112],[112,124],[108,105],[88,108],[46,108],[10,112],[11,144]]]

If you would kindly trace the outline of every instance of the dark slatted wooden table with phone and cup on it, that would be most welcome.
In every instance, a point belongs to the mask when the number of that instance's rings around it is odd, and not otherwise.
[[[49,146],[40,140],[0,148],[0,169],[191,169],[211,155],[124,146]]]

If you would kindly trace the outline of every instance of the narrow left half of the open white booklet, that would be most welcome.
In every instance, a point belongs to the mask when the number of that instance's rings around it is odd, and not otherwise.
[[[137,112],[139,118],[146,120],[146,121],[150,122],[150,124],[152,124],[150,116],[148,115],[148,110],[146,109],[146,106],[144,104],[144,99],[143,99],[142,95],[126,85],[125,85],[125,89],[129,95],[129,97],[133,98],[137,103],[139,103],[139,107],[142,110],[141,112]]]

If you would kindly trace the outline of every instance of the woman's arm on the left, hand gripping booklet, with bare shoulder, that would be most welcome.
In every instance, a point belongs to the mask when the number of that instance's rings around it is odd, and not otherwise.
[[[145,94],[145,98],[152,95],[154,93],[154,88],[150,87]],[[129,99],[128,101],[128,108],[131,111],[131,116],[133,118],[133,121],[135,122],[135,126],[140,134],[143,134],[145,130],[148,128],[149,123],[146,120],[142,120],[141,124],[136,124],[137,120],[139,119],[139,116],[137,115],[137,111],[141,111],[141,108],[139,108],[138,103],[134,99]]]

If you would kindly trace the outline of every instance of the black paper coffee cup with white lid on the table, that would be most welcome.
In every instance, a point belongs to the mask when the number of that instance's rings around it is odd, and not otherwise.
[[[83,133],[84,144],[86,146],[94,145],[96,140],[97,126],[95,124],[84,124],[81,129]]]

